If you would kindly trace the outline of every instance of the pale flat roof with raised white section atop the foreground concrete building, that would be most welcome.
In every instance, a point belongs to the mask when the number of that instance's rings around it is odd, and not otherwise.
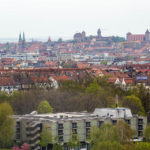
[[[36,111],[31,114],[14,116],[18,120],[36,120],[36,121],[75,121],[75,120],[92,120],[95,118],[105,119],[121,119],[132,118],[131,110],[128,108],[96,108],[94,113],[87,112],[65,112],[65,113],[49,113],[49,114],[37,114]]]

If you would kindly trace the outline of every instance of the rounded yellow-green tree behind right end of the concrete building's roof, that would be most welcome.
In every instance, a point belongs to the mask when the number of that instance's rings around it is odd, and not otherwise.
[[[135,95],[126,96],[123,99],[122,105],[124,107],[129,107],[133,114],[145,115],[141,100]]]

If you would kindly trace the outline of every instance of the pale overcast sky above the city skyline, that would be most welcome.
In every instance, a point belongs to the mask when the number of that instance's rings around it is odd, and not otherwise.
[[[150,0],[0,0],[0,38],[72,38],[87,35],[126,36],[150,29]]]

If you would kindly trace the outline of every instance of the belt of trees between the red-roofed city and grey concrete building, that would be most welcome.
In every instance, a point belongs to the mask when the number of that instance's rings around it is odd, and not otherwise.
[[[116,95],[119,96],[119,106],[130,108],[133,114],[149,114],[149,89],[143,85],[124,89],[107,83],[105,77],[84,78],[78,82],[62,81],[59,82],[58,89],[36,88],[15,91],[12,94],[0,92],[0,147],[7,148],[13,144],[13,120],[10,117],[12,114],[23,115],[34,110],[38,110],[38,113],[93,112],[95,108],[114,108]]]

